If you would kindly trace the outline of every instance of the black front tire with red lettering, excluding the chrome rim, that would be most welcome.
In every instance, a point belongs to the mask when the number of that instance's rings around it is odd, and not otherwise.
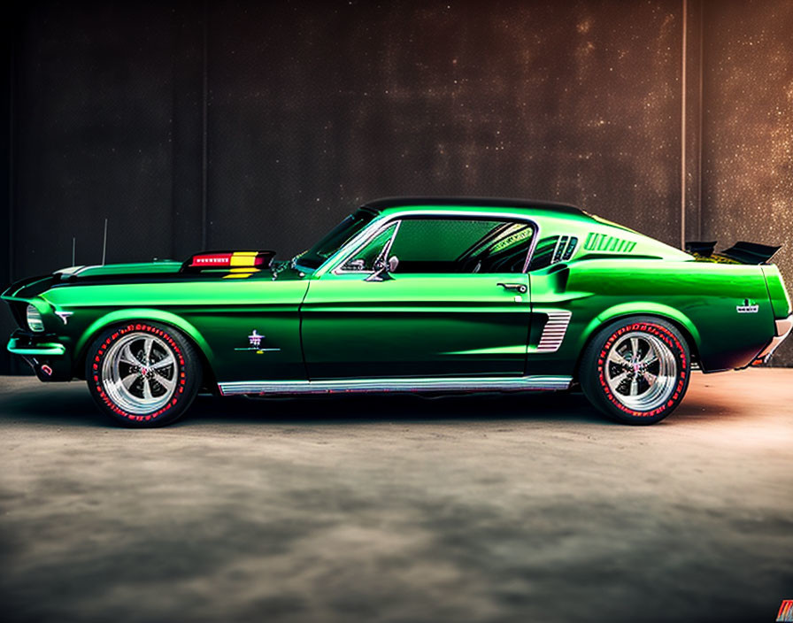
[[[112,344],[131,333],[150,334],[166,342],[176,359],[173,396],[166,404],[148,414],[125,411],[112,401],[102,378],[104,357]],[[144,320],[134,320],[105,329],[89,346],[86,354],[86,381],[96,404],[116,422],[127,427],[158,427],[178,419],[196,397],[201,383],[201,366],[190,342],[173,327]]]

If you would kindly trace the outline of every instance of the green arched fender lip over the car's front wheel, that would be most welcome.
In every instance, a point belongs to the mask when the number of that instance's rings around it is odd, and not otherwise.
[[[148,320],[150,322],[158,322],[179,331],[196,347],[198,357],[201,359],[201,367],[204,373],[204,385],[213,388],[217,387],[214,383],[214,372],[212,371],[212,347],[204,340],[204,337],[186,319],[181,318],[171,311],[148,309],[148,308],[131,308],[124,310],[110,311],[103,316],[100,316],[92,322],[76,342],[75,353],[76,357],[73,359],[73,370],[75,376],[82,378],[85,370],[85,358],[88,352],[89,344],[96,339],[96,336],[102,333],[107,327],[113,325],[131,322],[134,320]]]

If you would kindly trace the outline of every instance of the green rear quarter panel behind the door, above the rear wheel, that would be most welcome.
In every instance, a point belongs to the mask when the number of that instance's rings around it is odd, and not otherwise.
[[[635,314],[656,315],[681,327],[704,372],[749,365],[774,335],[766,281],[756,265],[592,259],[531,273],[531,288],[536,311],[566,309],[573,316],[556,361],[530,348],[527,373],[572,373],[600,328]],[[744,299],[757,304],[758,311],[739,313]]]

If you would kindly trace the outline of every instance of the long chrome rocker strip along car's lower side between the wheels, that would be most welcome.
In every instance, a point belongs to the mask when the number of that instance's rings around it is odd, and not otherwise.
[[[427,379],[343,379],[332,381],[233,381],[218,383],[221,396],[239,394],[327,394],[334,392],[422,391],[557,391],[567,389],[570,376],[448,377]]]

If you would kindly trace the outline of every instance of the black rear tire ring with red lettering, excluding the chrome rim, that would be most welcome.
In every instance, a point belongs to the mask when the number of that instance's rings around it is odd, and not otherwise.
[[[622,335],[630,332],[653,335],[664,343],[674,356],[677,377],[672,394],[664,404],[650,411],[636,411],[614,396],[605,378],[607,357]],[[632,316],[612,322],[600,330],[581,358],[581,388],[589,401],[612,419],[628,424],[653,424],[666,418],[685,396],[689,386],[691,358],[689,346],[680,331],[666,320],[652,316]]]

